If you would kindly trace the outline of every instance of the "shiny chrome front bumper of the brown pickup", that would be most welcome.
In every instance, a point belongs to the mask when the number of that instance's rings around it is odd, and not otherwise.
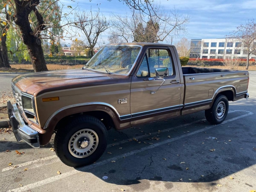
[[[8,115],[12,124],[12,131],[18,142],[23,140],[33,148],[39,148],[38,132],[27,126],[20,115],[17,104],[7,102]]]

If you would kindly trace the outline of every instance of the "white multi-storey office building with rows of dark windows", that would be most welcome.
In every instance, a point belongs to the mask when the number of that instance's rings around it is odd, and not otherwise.
[[[253,44],[256,46],[256,42]],[[243,44],[233,39],[192,39],[190,44],[190,58],[247,59],[247,54]],[[256,50],[250,54],[250,59],[256,59]]]

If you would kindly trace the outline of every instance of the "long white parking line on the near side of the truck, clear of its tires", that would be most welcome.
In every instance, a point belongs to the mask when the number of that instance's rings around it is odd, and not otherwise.
[[[241,110],[235,110],[235,111],[241,111]],[[247,116],[253,114],[250,111],[245,111],[245,112],[247,112],[248,114],[244,114],[244,115],[241,115],[241,116],[238,116],[238,117],[234,117],[234,118],[229,119],[229,120],[225,120],[224,122],[222,122],[222,125],[225,124],[225,123],[229,123],[229,122],[232,122],[234,120],[241,119],[243,117],[247,117]],[[178,139],[182,139],[184,137],[192,136],[194,134],[197,134],[197,133],[209,130],[209,129],[213,128],[213,127],[216,127],[216,125],[211,125],[209,127],[206,127],[206,128],[194,131],[194,132],[190,132],[190,133],[181,135],[179,137],[175,137],[173,139],[168,139],[168,140],[165,140],[165,141],[162,141],[162,142],[158,142],[158,143],[155,143],[154,145],[149,145],[149,146],[143,147],[141,149],[137,149],[137,150],[134,150],[134,151],[131,151],[131,152],[127,152],[125,154],[118,155],[116,157],[109,158],[107,160],[103,160],[103,161],[97,162],[95,164],[91,164],[89,166],[85,166],[85,167],[79,168],[77,170],[72,170],[72,171],[69,171],[69,172],[66,172],[66,173],[62,173],[61,175],[56,175],[54,177],[50,177],[50,178],[47,178],[47,179],[44,179],[44,180],[41,180],[41,181],[38,181],[38,182],[35,182],[35,183],[31,183],[31,184],[25,185],[23,187],[19,187],[19,188],[16,188],[16,189],[11,189],[11,190],[9,190],[9,192],[22,192],[22,191],[26,191],[28,189],[31,190],[31,189],[43,186],[43,185],[48,184],[48,183],[52,183],[53,181],[57,181],[57,180],[60,180],[62,178],[69,177],[71,175],[75,175],[77,173],[87,171],[88,169],[92,169],[92,168],[95,168],[95,167],[98,167],[98,166],[101,166],[101,165],[105,165],[107,163],[110,163],[113,160],[118,160],[118,159],[121,159],[123,157],[128,157],[130,155],[134,155],[134,154],[137,154],[139,152],[142,152],[142,151],[145,151],[145,150],[148,150],[148,149],[152,149],[152,148],[155,148],[155,147],[160,146],[160,145],[164,145],[166,143],[174,142],[174,141],[176,141]]]

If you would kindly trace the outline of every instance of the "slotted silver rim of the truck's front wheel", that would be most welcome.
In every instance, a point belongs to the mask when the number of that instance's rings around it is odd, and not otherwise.
[[[93,154],[99,143],[98,135],[91,129],[77,131],[69,140],[69,152],[77,158]]]

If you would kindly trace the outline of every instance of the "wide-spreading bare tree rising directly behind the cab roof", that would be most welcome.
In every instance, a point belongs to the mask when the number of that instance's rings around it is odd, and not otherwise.
[[[146,5],[143,11],[132,9],[125,16],[113,14],[110,34],[126,42],[158,42],[170,35],[186,33],[188,15],[180,15],[175,9],[166,11],[160,4]]]

